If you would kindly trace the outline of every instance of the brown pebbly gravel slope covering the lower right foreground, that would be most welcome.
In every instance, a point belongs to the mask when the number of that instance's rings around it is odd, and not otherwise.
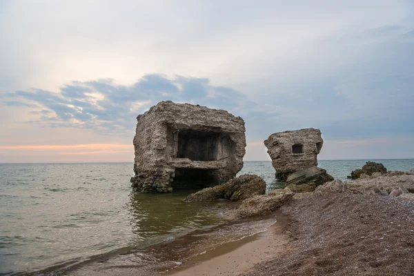
[[[281,210],[297,250],[243,275],[414,275],[413,201],[307,195]]]

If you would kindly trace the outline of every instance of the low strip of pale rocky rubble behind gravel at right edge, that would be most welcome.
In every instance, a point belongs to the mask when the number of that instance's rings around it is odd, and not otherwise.
[[[398,197],[404,193],[414,193],[414,175],[383,175],[354,181],[335,179],[315,189],[315,194],[348,193],[361,195],[391,195]]]

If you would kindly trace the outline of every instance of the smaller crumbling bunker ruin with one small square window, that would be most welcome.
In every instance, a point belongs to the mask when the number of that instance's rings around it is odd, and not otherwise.
[[[264,141],[278,181],[286,181],[293,172],[317,166],[323,144],[321,131],[315,128],[273,133]]]

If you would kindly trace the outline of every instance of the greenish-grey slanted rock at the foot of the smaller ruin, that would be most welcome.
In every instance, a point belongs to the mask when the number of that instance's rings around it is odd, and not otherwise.
[[[315,184],[315,186],[319,186],[333,180],[333,177],[328,175],[326,170],[313,166],[289,175],[288,179],[286,179],[286,184],[288,186],[292,184]]]

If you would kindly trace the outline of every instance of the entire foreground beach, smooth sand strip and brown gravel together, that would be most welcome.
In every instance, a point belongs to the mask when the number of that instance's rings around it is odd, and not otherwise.
[[[305,195],[264,233],[160,275],[414,275],[414,202]]]

